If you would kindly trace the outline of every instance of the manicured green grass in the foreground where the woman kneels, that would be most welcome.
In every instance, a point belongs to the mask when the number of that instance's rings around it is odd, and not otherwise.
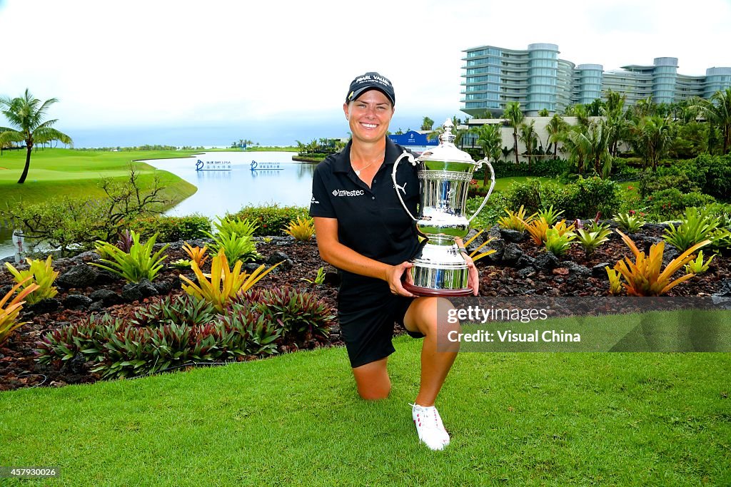
[[[462,353],[431,452],[408,405],[420,342],[395,347],[381,402],[342,348],[0,393],[0,465],[60,467],[59,486],[731,483],[727,354]]]

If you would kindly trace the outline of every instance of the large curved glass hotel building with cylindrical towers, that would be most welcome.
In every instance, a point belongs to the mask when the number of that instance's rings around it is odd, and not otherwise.
[[[731,86],[731,67],[708,68],[705,76],[678,74],[678,58],[655,58],[650,66],[622,66],[605,72],[601,64],[579,64],[558,58],[555,44],[531,44],[527,50],[496,46],[462,51],[462,111],[481,116],[501,115],[518,101],[526,115],[542,109],[561,113],[572,104],[605,99],[608,90],[626,95],[626,105],[652,96],[656,103],[673,103],[692,96],[711,98]]]

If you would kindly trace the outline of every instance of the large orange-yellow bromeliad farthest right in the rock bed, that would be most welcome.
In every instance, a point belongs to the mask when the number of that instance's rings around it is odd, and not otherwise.
[[[617,233],[621,235],[624,243],[635,254],[635,262],[632,262],[629,257],[625,257],[624,261],[618,261],[614,266],[614,269],[624,278],[622,286],[629,296],[662,296],[676,285],[689,280],[694,274],[686,274],[675,280],[671,279],[678,269],[681,269],[692,259],[692,254],[696,250],[711,243],[711,240],[704,240],[693,245],[670,261],[665,269],[661,271],[665,242],[651,245],[649,256],[645,256],[644,252],[637,249],[637,245],[632,242],[632,239],[619,230]]]

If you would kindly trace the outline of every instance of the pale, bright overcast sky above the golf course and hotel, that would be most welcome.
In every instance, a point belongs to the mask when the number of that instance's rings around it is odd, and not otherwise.
[[[705,74],[731,66],[730,26],[731,0],[0,0],[0,96],[57,98],[77,147],[293,145],[347,137],[364,72],[393,82],[391,130],[418,129],[465,116],[469,47],[548,42],[575,64],[669,56]]]

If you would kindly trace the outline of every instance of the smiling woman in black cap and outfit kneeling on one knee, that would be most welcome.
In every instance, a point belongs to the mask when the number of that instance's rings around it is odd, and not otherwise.
[[[363,399],[384,399],[391,383],[388,356],[395,322],[412,337],[423,337],[421,383],[412,404],[419,440],[432,450],[450,442],[434,401],[457,354],[444,346],[450,329],[437,327],[437,298],[417,298],[404,289],[402,276],[419,249],[416,226],[395,191],[417,213],[419,180],[411,164],[398,166],[398,190],[391,180],[395,159],[404,152],[386,137],[395,94],[390,80],[376,72],[355,78],[343,104],[352,139],[341,153],[315,169],[310,215],[324,261],[341,275],[338,321]],[[458,242],[461,245],[461,242]],[[471,258],[469,283],[477,295],[477,270]],[[443,350],[443,348],[440,348]]]

